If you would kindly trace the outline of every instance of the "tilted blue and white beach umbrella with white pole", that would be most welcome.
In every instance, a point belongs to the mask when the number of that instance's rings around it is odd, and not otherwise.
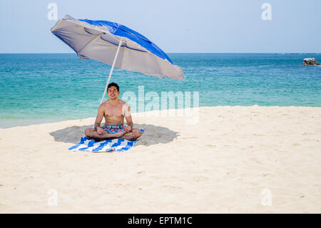
[[[122,24],[74,19],[66,15],[51,32],[76,51],[81,59],[95,59],[111,65],[101,103],[114,67],[159,78],[184,79],[182,69],[175,66],[164,51]]]

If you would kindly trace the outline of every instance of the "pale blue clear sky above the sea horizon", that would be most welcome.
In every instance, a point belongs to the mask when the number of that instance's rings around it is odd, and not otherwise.
[[[118,22],[167,53],[321,52],[320,0],[1,0],[0,53],[73,53],[51,34],[51,3],[58,19]]]

